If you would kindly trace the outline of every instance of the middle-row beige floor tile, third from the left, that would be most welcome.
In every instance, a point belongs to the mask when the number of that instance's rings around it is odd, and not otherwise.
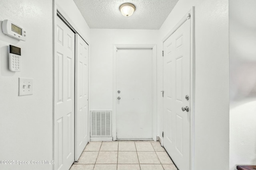
[[[137,152],[118,152],[118,164],[138,164]]]

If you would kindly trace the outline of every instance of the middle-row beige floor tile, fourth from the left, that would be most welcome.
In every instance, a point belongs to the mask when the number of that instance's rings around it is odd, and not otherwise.
[[[161,164],[156,152],[137,152],[140,164]]]

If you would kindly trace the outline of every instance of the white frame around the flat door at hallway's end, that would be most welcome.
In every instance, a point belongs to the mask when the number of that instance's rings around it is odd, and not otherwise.
[[[157,134],[157,79],[156,79],[156,45],[129,45],[129,44],[114,44],[113,45],[113,112],[112,112],[112,135],[113,135],[113,141],[116,141],[116,124],[117,124],[117,49],[152,49],[152,138],[154,141],[156,141],[156,134]]]

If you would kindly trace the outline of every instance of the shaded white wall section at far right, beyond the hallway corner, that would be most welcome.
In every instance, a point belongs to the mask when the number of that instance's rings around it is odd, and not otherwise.
[[[230,170],[256,164],[256,1],[229,2]]]

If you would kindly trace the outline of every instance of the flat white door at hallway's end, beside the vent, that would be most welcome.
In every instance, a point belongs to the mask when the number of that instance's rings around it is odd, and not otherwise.
[[[152,49],[117,50],[117,139],[152,139]]]

